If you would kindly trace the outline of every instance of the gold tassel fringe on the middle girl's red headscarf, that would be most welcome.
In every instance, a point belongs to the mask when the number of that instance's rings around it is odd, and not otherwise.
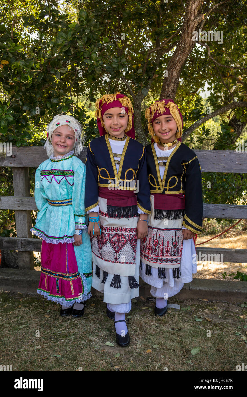
[[[121,94],[121,93],[119,91],[117,91],[115,94],[105,94],[101,98],[96,100],[95,117],[100,119],[102,127],[105,128],[105,124],[104,124],[103,118],[101,116],[100,101],[102,99],[102,104],[101,104],[101,106],[102,106],[104,103],[108,104],[108,103],[113,102],[114,100],[118,100],[123,107],[128,108],[128,110],[129,110],[128,124],[127,124],[126,130],[124,131],[124,132],[128,132],[132,128],[132,117],[134,114],[133,106],[132,106],[132,103],[130,102],[130,99],[127,96],[124,96],[123,98],[117,98],[116,97],[117,94]]]

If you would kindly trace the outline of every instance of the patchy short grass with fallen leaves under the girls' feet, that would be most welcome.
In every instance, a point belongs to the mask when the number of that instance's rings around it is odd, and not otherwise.
[[[190,310],[156,318],[154,303],[140,297],[128,314],[130,346],[121,348],[100,298],[80,319],[61,318],[60,306],[39,296],[2,292],[0,300],[0,364],[13,371],[236,371],[247,362],[247,307],[239,304],[179,301]],[[201,351],[191,355],[194,347]]]

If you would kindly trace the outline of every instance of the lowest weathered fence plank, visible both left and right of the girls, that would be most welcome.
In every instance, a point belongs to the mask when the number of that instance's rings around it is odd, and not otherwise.
[[[17,251],[38,251],[40,252],[42,240],[38,238],[13,238],[13,237],[0,237],[0,249],[17,250]],[[201,254],[200,254],[201,252]],[[203,254],[207,255],[208,261],[221,261],[222,262],[238,262],[247,263],[247,250],[246,249],[224,249],[215,247],[196,247],[198,255],[197,260],[205,260]],[[216,255],[216,256],[215,256]],[[217,257],[218,255],[218,257]],[[221,256],[223,255],[223,256]]]

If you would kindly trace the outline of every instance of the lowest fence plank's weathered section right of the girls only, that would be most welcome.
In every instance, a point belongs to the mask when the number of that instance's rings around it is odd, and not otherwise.
[[[216,247],[195,247],[197,260],[209,262],[247,263],[247,249],[225,249]],[[207,259],[203,255],[207,255]]]

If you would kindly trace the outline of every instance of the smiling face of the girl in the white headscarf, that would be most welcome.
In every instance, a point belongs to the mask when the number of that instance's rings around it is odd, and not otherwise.
[[[54,156],[63,156],[73,150],[75,145],[75,132],[69,125],[59,125],[52,134]]]

